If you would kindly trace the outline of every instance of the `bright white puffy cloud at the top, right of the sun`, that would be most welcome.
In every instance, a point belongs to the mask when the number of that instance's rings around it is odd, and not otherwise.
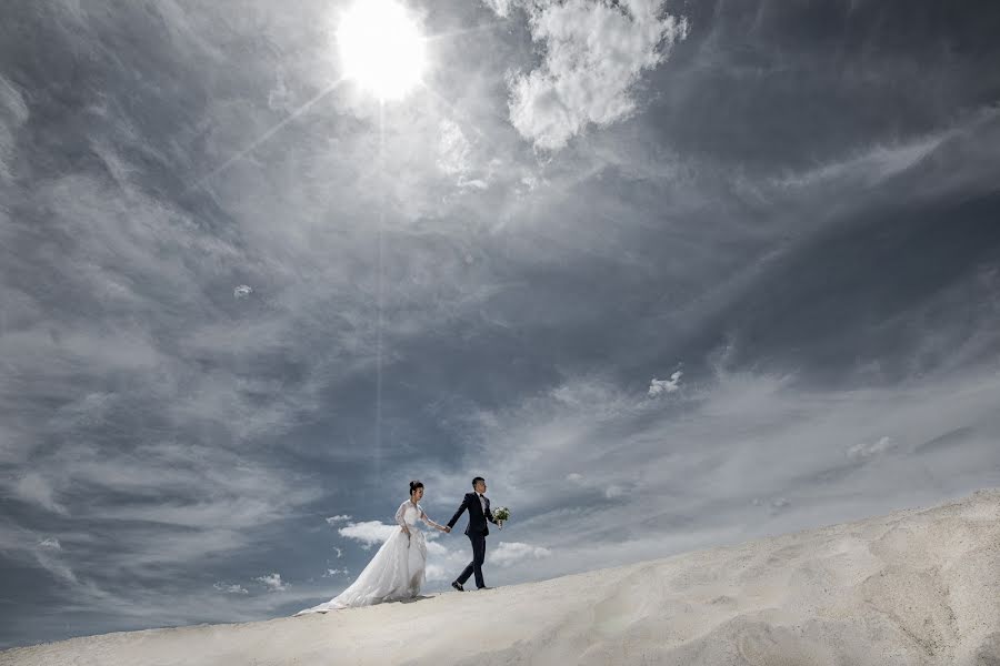
[[[510,78],[510,120],[536,148],[559,150],[589,124],[636,109],[632,88],[688,33],[660,0],[527,3],[531,38],[544,47],[538,69]]]

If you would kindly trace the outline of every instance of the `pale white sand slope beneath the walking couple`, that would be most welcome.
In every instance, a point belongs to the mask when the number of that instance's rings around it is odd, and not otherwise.
[[[74,638],[0,664],[1000,666],[1000,490],[543,583]]]

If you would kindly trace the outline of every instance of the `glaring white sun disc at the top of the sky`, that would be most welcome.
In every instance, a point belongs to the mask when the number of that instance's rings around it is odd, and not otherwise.
[[[340,18],[337,46],[344,75],[381,101],[403,98],[427,64],[416,21],[393,0],[357,0]]]

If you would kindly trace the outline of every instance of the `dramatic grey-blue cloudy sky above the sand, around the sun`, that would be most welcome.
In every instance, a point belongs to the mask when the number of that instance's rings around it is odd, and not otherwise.
[[[404,6],[3,3],[0,648],[1000,486],[1000,4]]]

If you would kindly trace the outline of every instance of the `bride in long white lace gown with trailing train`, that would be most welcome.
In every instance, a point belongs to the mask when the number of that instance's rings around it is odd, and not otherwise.
[[[419,481],[411,481],[410,498],[400,504],[396,512],[399,532],[393,532],[392,536],[386,539],[386,543],[350,587],[329,602],[299,610],[296,615],[326,613],[352,606],[370,606],[382,602],[412,598],[420,594],[420,588],[426,581],[427,537],[418,528],[417,521],[423,521],[431,527],[448,532],[447,527],[438,525],[423,513],[423,508],[418,504],[422,497],[423,484]]]

